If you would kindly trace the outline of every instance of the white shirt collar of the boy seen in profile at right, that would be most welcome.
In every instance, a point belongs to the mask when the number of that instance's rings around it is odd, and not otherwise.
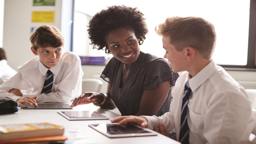
[[[194,92],[199,86],[201,86],[215,71],[217,65],[213,60],[210,61],[202,70],[199,71],[194,77],[188,80],[191,91]]]

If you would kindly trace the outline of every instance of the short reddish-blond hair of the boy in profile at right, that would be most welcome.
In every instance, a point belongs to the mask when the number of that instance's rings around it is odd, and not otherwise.
[[[215,28],[200,17],[170,17],[156,26],[155,31],[159,35],[169,36],[176,50],[193,47],[205,59],[211,58],[215,48]]]

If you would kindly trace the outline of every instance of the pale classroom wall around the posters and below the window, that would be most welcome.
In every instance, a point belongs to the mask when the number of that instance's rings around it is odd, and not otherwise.
[[[35,57],[30,50],[30,27],[44,23],[31,23],[31,11],[55,11],[55,22],[48,24],[61,29],[61,0],[56,0],[55,6],[32,5],[33,0],[6,0],[4,3],[3,48],[7,53],[8,64],[14,69]],[[92,5],[88,6],[92,7]],[[83,78],[99,78],[104,66],[85,65],[82,66],[82,69],[84,71]],[[256,71],[228,71],[228,73],[235,80],[256,81]],[[104,85],[106,85],[105,82]],[[105,88],[103,88],[104,91]]]

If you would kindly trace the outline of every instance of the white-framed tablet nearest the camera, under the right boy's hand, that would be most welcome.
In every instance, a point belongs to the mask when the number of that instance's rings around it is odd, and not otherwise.
[[[110,138],[119,137],[141,137],[141,136],[156,136],[157,132],[148,128],[141,128],[133,124],[123,124],[121,126],[117,123],[112,124],[89,124],[89,127],[99,131],[103,135]]]

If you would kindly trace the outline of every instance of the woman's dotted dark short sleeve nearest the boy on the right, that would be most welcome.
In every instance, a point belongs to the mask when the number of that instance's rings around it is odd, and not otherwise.
[[[175,76],[176,78],[174,78]],[[178,73],[174,73],[170,64],[163,58],[153,60],[147,68],[145,81],[143,83],[144,90],[155,89],[157,84],[171,80],[171,89],[178,77]],[[171,90],[170,89],[170,90]]]

